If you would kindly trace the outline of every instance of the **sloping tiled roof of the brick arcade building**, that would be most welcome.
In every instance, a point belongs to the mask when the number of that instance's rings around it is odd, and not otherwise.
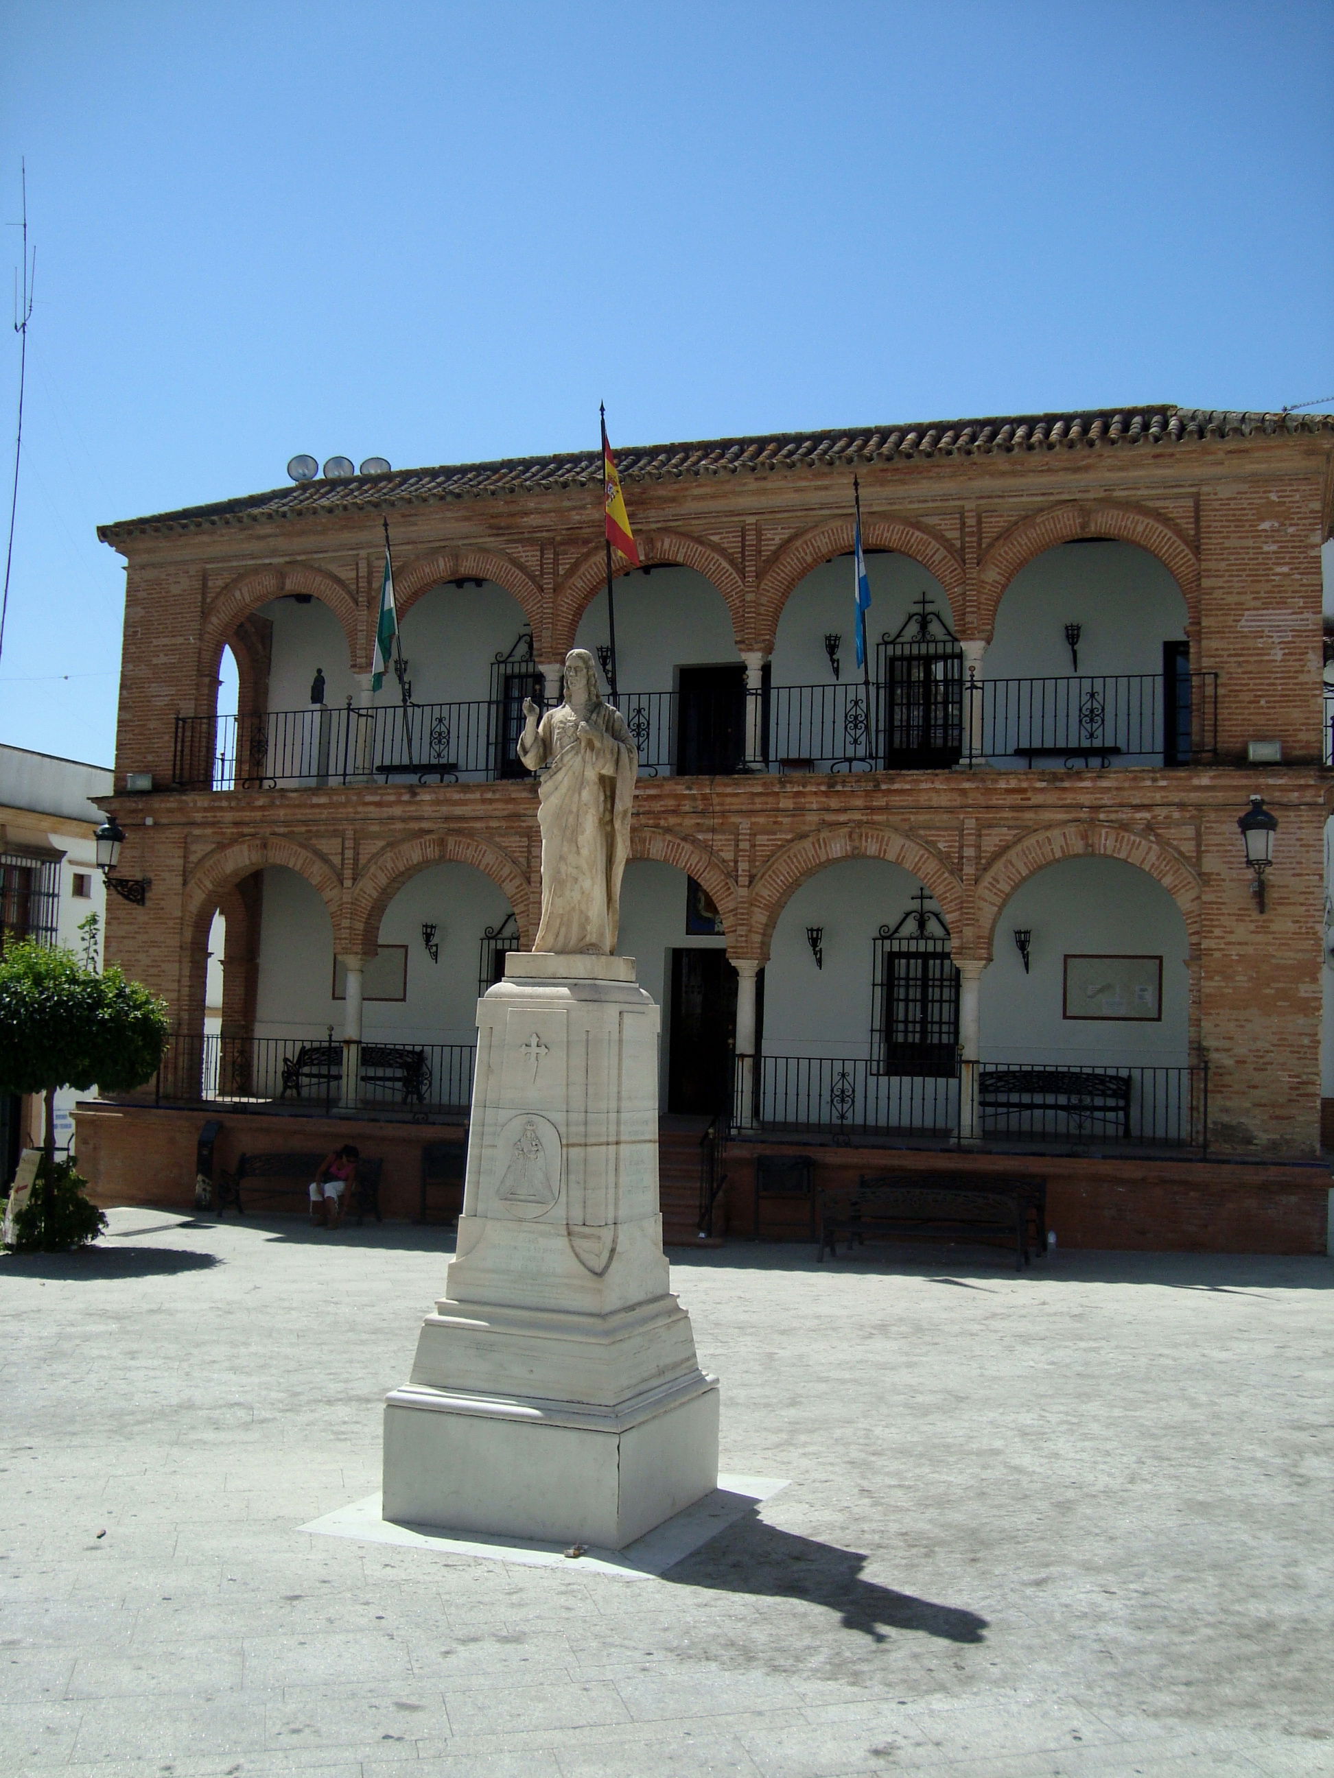
[[[994,420],[932,420],[923,425],[863,427],[843,432],[777,432],[767,437],[704,439],[687,444],[631,444],[615,453],[626,482],[674,482],[690,475],[761,469],[852,469],[872,462],[937,457],[994,457],[1017,452],[1121,450],[1135,444],[1190,444],[1258,434],[1334,432],[1334,414],[1252,414],[1199,407],[1128,407],[1083,414],[1021,414]],[[267,494],[181,507],[144,519],[98,526],[103,542],[215,525],[301,519],[320,514],[381,512],[439,500],[487,494],[541,494],[589,487],[601,478],[601,453],[507,457],[502,462],[391,469],[384,475],[317,478]]]

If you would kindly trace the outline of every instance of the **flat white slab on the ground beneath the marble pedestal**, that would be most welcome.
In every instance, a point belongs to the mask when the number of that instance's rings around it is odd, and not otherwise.
[[[587,1549],[582,1556],[567,1556],[559,1543],[528,1543],[478,1533],[450,1536],[448,1531],[432,1526],[400,1526],[381,1515],[379,1494],[368,1494],[352,1506],[340,1506],[299,1529],[325,1538],[354,1538],[361,1543],[397,1543],[400,1549],[438,1556],[482,1556],[487,1561],[516,1561],[528,1568],[578,1566],[585,1574],[610,1574],[623,1581],[655,1581],[786,1486],[786,1481],[765,1476],[719,1476],[713,1494],[687,1506],[683,1513],[656,1526],[635,1543],[628,1543],[623,1550]]]

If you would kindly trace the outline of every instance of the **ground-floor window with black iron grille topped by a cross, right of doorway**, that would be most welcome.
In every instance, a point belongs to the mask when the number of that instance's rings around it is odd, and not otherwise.
[[[959,971],[950,957],[950,928],[927,907],[873,941],[872,1074],[953,1076],[959,1070]]]

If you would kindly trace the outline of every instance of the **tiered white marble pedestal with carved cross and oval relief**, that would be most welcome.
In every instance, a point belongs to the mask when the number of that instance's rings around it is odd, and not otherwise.
[[[719,1472],[669,1294],[658,1008],[630,957],[514,951],[477,1008],[446,1296],[384,1410],[384,1517],[623,1549]]]

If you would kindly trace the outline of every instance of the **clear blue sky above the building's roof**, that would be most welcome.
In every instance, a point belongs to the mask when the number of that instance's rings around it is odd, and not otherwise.
[[[94,525],[281,485],[293,452],[587,448],[599,398],[631,444],[1334,395],[1329,4],[5,0],[0,27],[0,219],[25,155],[37,244],[23,747],[112,754]],[[16,389],[5,336],[5,514]]]

